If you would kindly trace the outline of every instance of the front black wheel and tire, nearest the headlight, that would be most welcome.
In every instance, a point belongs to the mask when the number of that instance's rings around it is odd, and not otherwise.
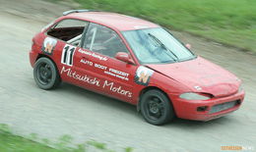
[[[158,89],[144,93],[141,97],[140,106],[142,116],[152,125],[164,125],[174,119],[175,113],[171,102]]]

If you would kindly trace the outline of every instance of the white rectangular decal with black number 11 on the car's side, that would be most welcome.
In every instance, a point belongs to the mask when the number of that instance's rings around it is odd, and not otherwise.
[[[76,47],[66,44],[62,50],[61,63],[68,66],[73,66],[73,58]]]

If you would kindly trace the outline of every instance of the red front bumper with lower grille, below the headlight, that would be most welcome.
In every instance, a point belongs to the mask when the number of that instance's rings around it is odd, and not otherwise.
[[[172,98],[173,99],[173,98]],[[198,100],[184,100],[175,96],[172,104],[174,106],[174,110],[176,116],[181,119],[187,120],[196,120],[196,121],[210,121],[213,119],[217,119],[223,117],[224,115],[231,113],[237,110],[244,99],[244,91],[238,92],[236,94],[222,97],[222,98],[214,98],[206,101],[198,101]],[[219,105],[227,105],[227,103],[235,101],[236,104],[228,107],[227,109],[223,109],[220,111],[213,111],[213,107]],[[199,110],[199,107],[207,107],[205,110]]]

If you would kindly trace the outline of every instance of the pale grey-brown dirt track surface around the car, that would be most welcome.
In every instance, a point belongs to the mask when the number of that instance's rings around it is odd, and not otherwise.
[[[244,81],[246,98],[238,111],[207,123],[178,119],[155,127],[135,107],[70,84],[52,91],[37,88],[28,56],[32,36],[67,9],[42,1],[0,0],[0,124],[51,140],[63,134],[76,143],[96,139],[118,151],[131,146],[135,151],[203,152],[226,145],[256,150],[256,56],[187,33],[174,32],[198,55]]]

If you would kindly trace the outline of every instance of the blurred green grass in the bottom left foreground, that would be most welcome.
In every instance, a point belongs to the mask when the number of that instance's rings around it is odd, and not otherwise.
[[[40,140],[41,143],[33,140]],[[35,133],[30,134],[27,138],[12,133],[10,127],[0,124],[0,151],[1,152],[86,152],[86,151],[102,151],[114,152],[107,148],[105,143],[95,140],[87,141],[76,146],[70,146],[72,137],[70,135],[62,135],[56,143],[48,139],[38,139]],[[52,145],[54,148],[46,146]],[[89,150],[90,149],[90,150]],[[132,152],[132,147],[126,147],[124,152]]]

